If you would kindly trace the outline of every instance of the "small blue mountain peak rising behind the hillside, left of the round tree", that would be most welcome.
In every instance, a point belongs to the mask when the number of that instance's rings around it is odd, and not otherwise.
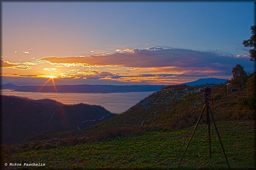
[[[189,86],[196,86],[196,85],[205,85],[205,84],[215,84],[219,85],[221,83],[226,82],[228,79],[217,79],[217,78],[206,78],[206,79],[198,79],[193,82],[185,82],[181,85],[189,85]]]

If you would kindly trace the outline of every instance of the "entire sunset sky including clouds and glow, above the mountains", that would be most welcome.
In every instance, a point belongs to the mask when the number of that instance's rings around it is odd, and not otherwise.
[[[253,72],[254,2],[3,2],[2,81],[172,85]]]

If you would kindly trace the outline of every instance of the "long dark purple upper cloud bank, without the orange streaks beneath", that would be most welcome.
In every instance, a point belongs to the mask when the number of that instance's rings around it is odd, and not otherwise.
[[[154,49],[154,50],[151,50]],[[157,50],[155,50],[157,49]],[[125,67],[177,67],[189,70],[189,68],[213,68],[227,72],[238,63],[251,67],[248,58],[237,58],[216,54],[211,51],[195,51],[189,49],[163,49],[150,48],[150,50],[136,50],[129,53],[114,53],[105,56],[90,57],[47,57],[45,60],[51,63],[73,63],[76,65],[122,65]]]

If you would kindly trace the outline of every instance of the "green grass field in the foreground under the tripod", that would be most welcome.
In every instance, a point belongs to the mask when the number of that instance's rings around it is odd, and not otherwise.
[[[217,126],[230,167],[255,168],[253,122],[218,121]],[[143,136],[120,137],[89,144],[20,150],[12,155],[12,159],[18,163],[45,163],[45,168],[49,169],[171,169],[177,167],[193,129],[152,131]],[[209,158],[207,125],[199,125],[180,168],[227,168],[213,125],[211,139],[212,159]]]

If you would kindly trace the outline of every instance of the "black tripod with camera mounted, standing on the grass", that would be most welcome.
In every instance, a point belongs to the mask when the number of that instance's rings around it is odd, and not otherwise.
[[[200,91],[203,91],[203,90],[200,90]],[[210,104],[209,104],[209,101],[210,101],[210,100],[212,100],[211,88],[205,87],[205,88],[204,88],[204,102],[205,102],[204,108],[203,108],[203,110],[201,111],[201,114],[200,114],[200,116],[199,116],[198,122],[197,122],[196,125],[195,125],[195,129],[193,130],[193,133],[192,133],[192,135],[190,136],[189,143],[190,143],[190,141],[191,141],[191,139],[192,139],[192,137],[193,137],[193,135],[194,135],[194,133],[195,133],[195,130],[196,130],[196,128],[198,127],[198,123],[199,123],[200,119],[202,118],[203,113],[204,113],[204,111],[205,111],[205,109],[206,109],[206,114],[207,114],[207,121],[206,121],[206,122],[207,122],[207,125],[208,125],[208,133],[209,133],[209,156],[210,156],[210,158],[212,158],[212,155],[211,155],[210,122],[209,122],[209,112],[210,112],[210,113],[211,113],[211,116],[212,116],[212,122],[213,122],[213,124],[214,124],[214,126],[215,126],[215,130],[216,130],[216,132],[217,132],[218,139],[220,140],[221,147],[222,147],[222,150],[223,150],[225,159],[226,159],[226,161],[227,161],[227,165],[228,165],[228,167],[229,167],[229,169],[230,169],[230,164],[229,164],[229,162],[228,162],[228,160],[227,160],[227,156],[226,156],[226,153],[225,153],[223,144],[222,144],[222,142],[221,142],[221,136],[220,136],[220,134],[218,133],[218,128],[217,128],[217,126],[216,126],[215,119],[214,119],[214,116],[213,116],[213,114],[212,114],[212,109],[211,109],[211,106],[210,106]],[[213,103],[213,101],[212,101],[212,103]],[[186,149],[185,149],[184,152],[183,152],[183,155],[182,155],[182,157],[181,157],[181,159],[180,159],[180,162],[182,161],[183,156],[185,155],[186,150],[187,150],[187,148],[189,147],[189,143],[186,145]],[[180,166],[180,162],[179,162],[179,164],[178,164],[177,167]]]

